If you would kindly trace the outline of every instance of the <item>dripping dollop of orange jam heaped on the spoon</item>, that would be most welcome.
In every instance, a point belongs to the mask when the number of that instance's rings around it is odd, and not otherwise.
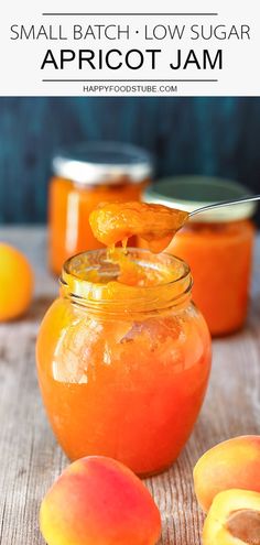
[[[139,236],[153,252],[161,252],[188,219],[188,212],[145,203],[104,203],[89,217],[94,236],[105,246],[123,246]]]

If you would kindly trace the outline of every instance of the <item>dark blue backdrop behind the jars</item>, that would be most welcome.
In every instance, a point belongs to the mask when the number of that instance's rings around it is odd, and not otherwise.
[[[42,222],[53,153],[111,139],[156,156],[156,175],[207,174],[260,193],[260,98],[0,98],[0,222]]]

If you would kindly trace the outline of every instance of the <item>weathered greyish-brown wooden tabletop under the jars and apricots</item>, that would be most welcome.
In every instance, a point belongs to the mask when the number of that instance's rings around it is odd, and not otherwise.
[[[23,250],[36,275],[28,316],[0,326],[0,544],[43,545],[39,505],[67,465],[44,414],[34,358],[39,325],[57,285],[46,271],[43,228],[2,228],[0,240]],[[162,513],[160,544],[199,545],[203,514],[193,466],[216,443],[242,434],[260,434],[260,239],[248,324],[214,341],[210,384],[194,433],[172,469],[147,481]]]

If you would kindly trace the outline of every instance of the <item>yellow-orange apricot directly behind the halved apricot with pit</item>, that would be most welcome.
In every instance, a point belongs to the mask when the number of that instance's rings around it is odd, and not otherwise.
[[[193,477],[197,501],[204,511],[208,511],[214,497],[223,490],[240,488],[260,492],[260,436],[245,435],[219,443],[199,458]]]

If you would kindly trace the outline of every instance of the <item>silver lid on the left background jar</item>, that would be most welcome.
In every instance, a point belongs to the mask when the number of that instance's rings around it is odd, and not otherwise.
[[[121,142],[86,142],[64,148],[53,159],[54,175],[80,185],[140,183],[153,173],[145,150]]]

